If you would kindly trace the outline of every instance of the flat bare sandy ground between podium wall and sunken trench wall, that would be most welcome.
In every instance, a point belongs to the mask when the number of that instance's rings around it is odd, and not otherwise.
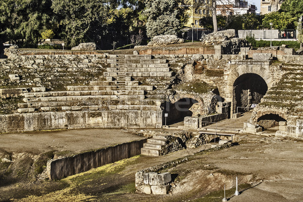
[[[39,154],[49,150],[79,153],[142,139],[125,130],[84,129],[0,134],[0,148],[12,153]]]

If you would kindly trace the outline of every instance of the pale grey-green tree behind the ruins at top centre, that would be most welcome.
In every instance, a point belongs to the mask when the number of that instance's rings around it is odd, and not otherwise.
[[[156,35],[176,35],[186,17],[181,2],[175,0],[147,0],[144,15],[147,17],[146,32],[152,38]]]

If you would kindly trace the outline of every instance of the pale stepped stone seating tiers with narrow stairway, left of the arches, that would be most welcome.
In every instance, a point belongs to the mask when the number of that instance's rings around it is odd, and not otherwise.
[[[159,110],[159,100],[148,99],[155,86],[142,85],[133,77],[171,77],[167,60],[151,55],[109,55],[111,67],[106,81],[91,81],[87,86],[67,86],[66,91],[24,93],[18,113],[54,111]]]

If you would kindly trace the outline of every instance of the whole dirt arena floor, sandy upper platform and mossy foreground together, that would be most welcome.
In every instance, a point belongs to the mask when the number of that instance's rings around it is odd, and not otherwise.
[[[107,129],[1,134],[0,151],[21,156],[49,150],[79,153],[140,138]],[[0,174],[0,201],[219,202],[224,185],[228,201],[303,201],[303,141],[243,133],[235,139],[230,148],[206,150],[212,147],[208,144],[161,157],[136,156],[56,181],[23,178],[26,173],[12,171],[21,179],[4,182]],[[176,176],[169,195],[135,192],[137,171],[185,156],[188,161],[163,170]],[[236,176],[239,196],[233,195]]]

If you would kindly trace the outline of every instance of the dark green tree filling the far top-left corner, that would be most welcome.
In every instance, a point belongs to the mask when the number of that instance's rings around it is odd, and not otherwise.
[[[2,0],[1,37],[19,46],[35,45],[42,30],[52,27],[51,0]]]

